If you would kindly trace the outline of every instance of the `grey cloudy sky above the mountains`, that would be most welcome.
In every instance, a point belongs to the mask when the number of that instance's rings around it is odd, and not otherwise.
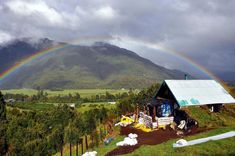
[[[233,0],[0,0],[0,44],[24,37],[106,41],[164,67],[202,74],[163,50],[173,49],[235,80],[234,8]]]

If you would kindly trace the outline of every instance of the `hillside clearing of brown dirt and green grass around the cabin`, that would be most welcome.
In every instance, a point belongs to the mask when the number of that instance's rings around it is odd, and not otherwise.
[[[188,107],[185,111],[199,122],[199,127],[184,136],[166,130],[150,133],[141,132],[130,127],[121,128],[120,136],[136,133],[138,144],[135,146],[115,147],[107,145],[104,153],[102,148],[97,148],[98,155],[234,155],[235,137],[210,141],[198,145],[173,149],[172,145],[180,138],[186,140],[221,134],[235,130],[235,106],[225,105],[219,113],[211,113],[205,107]],[[117,137],[119,138],[119,136]],[[114,141],[118,142],[117,140]]]

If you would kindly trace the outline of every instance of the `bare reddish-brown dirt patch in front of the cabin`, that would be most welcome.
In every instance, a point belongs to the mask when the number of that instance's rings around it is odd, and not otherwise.
[[[193,127],[189,132],[185,133],[185,135],[193,135],[196,133],[200,133],[206,131],[206,129],[201,129],[198,127]],[[133,152],[135,149],[139,148],[141,145],[156,145],[162,142],[165,142],[170,139],[180,138],[181,136],[176,134],[176,131],[167,128],[165,130],[155,130],[153,132],[143,132],[139,129],[133,128],[131,126],[121,127],[120,135],[128,135],[130,133],[135,133],[138,135],[137,140],[138,144],[135,146],[122,146],[117,147],[113,151],[106,154],[106,156],[113,155],[122,155]]]

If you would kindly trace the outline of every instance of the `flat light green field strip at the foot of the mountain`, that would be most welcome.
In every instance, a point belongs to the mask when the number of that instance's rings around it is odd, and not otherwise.
[[[3,94],[11,93],[11,94],[26,94],[26,95],[36,95],[37,90],[34,89],[11,89],[11,90],[1,90]],[[56,95],[68,95],[69,93],[74,95],[79,93],[81,97],[91,97],[93,95],[105,95],[106,92],[111,94],[121,94],[128,92],[128,89],[67,89],[62,91],[52,91],[52,90],[44,90],[48,93],[48,96],[56,96]]]

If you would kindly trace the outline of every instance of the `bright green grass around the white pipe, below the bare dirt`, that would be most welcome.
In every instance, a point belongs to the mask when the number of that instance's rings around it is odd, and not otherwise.
[[[215,130],[211,130],[206,133],[197,134],[194,136],[185,137],[186,140],[192,140],[207,136],[212,136],[216,134],[221,134],[224,132],[228,132],[234,130],[235,126],[227,127],[227,128],[219,128]],[[173,143],[175,143],[178,139],[170,140],[165,143],[159,145],[144,145],[139,149],[135,150],[130,154],[126,154],[128,156],[154,156],[154,155],[234,155],[235,154],[235,137],[222,139],[217,141],[209,141],[202,144],[197,144],[193,146],[176,148],[172,147]]]

